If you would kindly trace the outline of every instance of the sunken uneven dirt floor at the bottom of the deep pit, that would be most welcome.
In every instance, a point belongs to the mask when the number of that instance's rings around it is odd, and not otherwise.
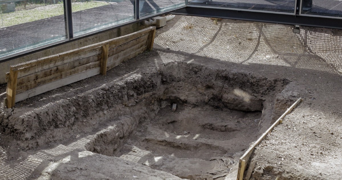
[[[182,105],[175,112],[162,108],[137,128],[116,156],[180,178],[224,178],[238,164],[236,153],[253,141],[260,117],[260,111],[209,105]]]

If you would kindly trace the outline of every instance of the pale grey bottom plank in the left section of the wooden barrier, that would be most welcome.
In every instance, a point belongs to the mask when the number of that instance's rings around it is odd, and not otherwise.
[[[84,71],[81,73],[77,73],[77,74],[68,76],[68,77],[63,78],[63,79],[58,79],[58,80],[49,82],[47,84],[38,86],[34,89],[30,89],[28,91],[17,94],[15,102],[19,102],[19,101],[25,100],[27,98],[34,97],[35,95],[38,95],[38,94],[41,94],[44,92],[48,92],[48,91],[51,91],[53,89],[68,85],[70,83],[77,82],[77,81],[82,80],[82,79],[86,79],[86,78],[95,76],[98,74],[100,74],[100,67],[96,67],[94,69],[90,69],[90,70],[87,70],[87,71]]]

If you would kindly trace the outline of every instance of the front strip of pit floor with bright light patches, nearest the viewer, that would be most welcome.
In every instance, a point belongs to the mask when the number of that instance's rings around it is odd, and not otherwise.
[[[125,160],[149,166],[152,169],[162,170],[185,179],[213,179],[225,175],[231,170],[234,162],[229,157],[213,157],[210,160],[198,158],[178,158],[174,155],[156,155],[151,151],[139,147],[124,145],[119,156]]]

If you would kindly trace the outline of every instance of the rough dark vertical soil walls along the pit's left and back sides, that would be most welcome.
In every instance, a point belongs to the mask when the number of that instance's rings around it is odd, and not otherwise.
[[[172,62],[158,70],[132,73],[39,108],[4,108],[0,114],[0,132],[3,136],[14,137],[21,147],[32,149],[95,133],[112,121],[128,118],[130,122],[122,125],[120,132],[108,131],[97,137],[103,141],[107,138],[107,142],[109,138],[120,146],[139,122],[154,117],[160,102],[168,100],[239,111],[262,111],[259,123],[262,133],[272,119],[278,118],[295,100],[295,94],[291,94],[286,85],[291,86],[287,79],[267,79],[240,70]],[[96,152],[95,147],[100,145],[90,144],[88,149]],[[107,154],[106,147],[101,149],[102,154]],[[108,154],[112,155],[113,149]]]

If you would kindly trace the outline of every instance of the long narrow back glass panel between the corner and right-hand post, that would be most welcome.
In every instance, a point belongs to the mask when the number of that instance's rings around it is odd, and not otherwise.
[[[294,13],[295,0],[189,0],[188,4]]]

